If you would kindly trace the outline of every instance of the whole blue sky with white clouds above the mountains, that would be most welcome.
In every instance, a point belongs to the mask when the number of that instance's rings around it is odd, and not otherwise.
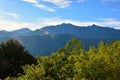
[[[120,29],[120,0],[0,0],[0,30],[62,23]]]

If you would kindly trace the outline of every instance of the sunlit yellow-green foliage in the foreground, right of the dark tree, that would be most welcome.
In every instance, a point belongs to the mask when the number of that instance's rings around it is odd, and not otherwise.
[[[50,56],[37,57],[37,65],[23,66],[25,75],[5,80],[119,80],[120,41],[85,51],[73,38]]]

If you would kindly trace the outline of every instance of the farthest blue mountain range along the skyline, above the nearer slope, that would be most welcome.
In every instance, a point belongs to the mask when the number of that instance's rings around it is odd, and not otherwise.
[[[61,24],[57,26],[46,26],[35,31],[31,31],[28,28],[22,28],[12,32],[0,31],[0,36],[32,36],[32,35],[58,35],[69,34],[76,36],[80,39],[119,39],[120,30],[101,27],[97,25],[92,26],[75,26],[72,24]]]

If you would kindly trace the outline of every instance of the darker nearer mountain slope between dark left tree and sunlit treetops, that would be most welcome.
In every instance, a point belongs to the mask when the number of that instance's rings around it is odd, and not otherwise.
[[[33,55],[50,55],[60,47],[63,47],[67,41],[74,36],[69,34],[59,35],[33,35],[33,36],[21,36],[16,39],[19,40],[26,49]]]

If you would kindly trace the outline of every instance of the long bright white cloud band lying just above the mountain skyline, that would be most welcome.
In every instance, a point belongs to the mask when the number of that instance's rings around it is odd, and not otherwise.
[[[98,22],[94,22],[94,21],[81,22],[76,20],[69,20],[69,19],[54,17],[54,18],[38,18],[37,22],[35,23],[0,20],[0,30],[6,29],[8,31],[12,31],[12,30],[16,30],[24,27],[30,28],[31,30],[35,30],[35,29],[40,29],[44,26],[50,26],[50,25],[54,26],[62,23],[71,23],[73,25],[83,26],[83,27],[96,24],[99,26],[107,26],[115,29],[120,29],[120,21],[112,18],[101,18],[101,20]]]

